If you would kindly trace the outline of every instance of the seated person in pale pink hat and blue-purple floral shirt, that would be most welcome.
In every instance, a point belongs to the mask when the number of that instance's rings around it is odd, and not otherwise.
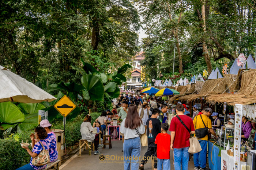
[[[49,146],[50,162],[55,162],[58,160],[58,151],[56,136],[51,130],[52,124],[49,123],[49,120],[45,119],[40,122],[40,126],[44,127],[48,135],[45,140],[48,142]]]

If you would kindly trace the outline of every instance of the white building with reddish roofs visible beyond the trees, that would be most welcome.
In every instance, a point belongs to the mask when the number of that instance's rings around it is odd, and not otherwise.
[[[135,86],[142,86],[140,62],[145,59],[145,52],[140,51],[133,59],[131,78],[127,78],[126,81],[128,90],[133,90]]]

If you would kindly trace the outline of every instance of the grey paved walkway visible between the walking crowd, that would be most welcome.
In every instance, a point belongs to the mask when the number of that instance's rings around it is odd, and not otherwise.
[[[79,153],[75,154],[71,159],[69,159],[67,162],[65,162],[63,165],[61,165],[60,169],[62,170],[123,170],[123,162],[118,160],[109,160],[109,161],[100,161],[99,156],[104,155],[113,155],[113,157],[121,157],[123,156],[123,152],[121,151],[123,149],[123,143],[122,141],[112,141],[112,149],[108,149],[108,146],[106,146],[106,149],[99,149],[101,154],[94,155],[94,151],[91,151],[91,156],[89,156],[88,150],[85,150],[82,152],[81,157],[79,157]],[[147,146],[142,147],[141,149],[141,157],[144,156],[144,154],[147,151]],[[173,152],[171,150],[171,169],[174,170],[173,164]],[[145,170],[153,170],[153,164],[154,161],[148,161],[144,169]],[[194,163],[193,158],[188,163],[188,170],[194,169]]]

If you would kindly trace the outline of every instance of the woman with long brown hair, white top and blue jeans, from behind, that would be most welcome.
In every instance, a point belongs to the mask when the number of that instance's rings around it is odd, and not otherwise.
[[[145,127],[140,119],[137,107],[135,104],[130,104],[126,118],[121,123],[120,133],[124,134],[124,170],[138,169],[139,160],[135,157],[140,157],[140,134],[145,133]],[[131,157],[129,159],[129,157]]]

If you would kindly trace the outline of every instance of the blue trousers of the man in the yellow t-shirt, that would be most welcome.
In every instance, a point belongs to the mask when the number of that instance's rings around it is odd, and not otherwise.
[[[205,168],[206,167],[206,154],[207,154],[207,142],[204,140],[198,140],[202,151],[199,153],[194,154],[194,165],[196,167]]]

